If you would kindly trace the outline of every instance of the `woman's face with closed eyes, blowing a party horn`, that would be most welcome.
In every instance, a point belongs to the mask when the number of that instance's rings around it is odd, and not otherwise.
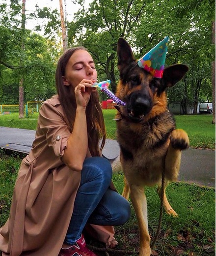
[[[65,67],[64,85],[74,88],[82,79],[97,79],[97,71],[91,55],[85,50],[76,50]]]

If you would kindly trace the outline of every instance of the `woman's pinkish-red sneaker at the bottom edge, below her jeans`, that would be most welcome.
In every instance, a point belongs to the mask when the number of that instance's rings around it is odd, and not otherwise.
[[[58,256],[97,256],[92,251],[90,251],[85,243],[83,234],[81,238],[76,241],[75,245],[67,249],[61,248]]]

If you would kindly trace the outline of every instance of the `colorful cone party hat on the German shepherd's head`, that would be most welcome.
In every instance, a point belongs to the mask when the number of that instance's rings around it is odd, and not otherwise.
[[[163,75],[168,39],[169,37],[166,36],[137,62],[140,67],[150,72],[156,78],[162,78]]]

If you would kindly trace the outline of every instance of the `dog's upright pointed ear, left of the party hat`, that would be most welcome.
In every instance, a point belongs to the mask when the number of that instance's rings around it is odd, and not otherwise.
[[[118,69],[122,69],[135,62],[134,54],[129,43],[122,37],[118,39],[117,45]]]

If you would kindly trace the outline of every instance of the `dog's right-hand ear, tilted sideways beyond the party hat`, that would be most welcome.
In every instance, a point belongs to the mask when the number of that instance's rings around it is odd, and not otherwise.
[[[163,77],[166,87],[172,87],[188,72],[189,67],[184,64],[175,64],[164,68]]]

